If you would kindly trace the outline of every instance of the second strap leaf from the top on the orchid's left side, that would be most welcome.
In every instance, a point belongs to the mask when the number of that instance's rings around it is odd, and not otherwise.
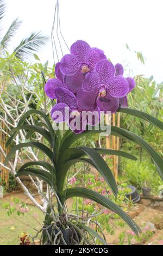
[[[52,145],[51,134],[46,129],[43,129],[42,127],[39,127],[36,125],[18,125],[14,129],[9,131],[9,134],[11,134],[13,132],[20,131],[20,130],[29,130],[29,131],[33,131],[33,132],[38,132],[43,136],[43,138],[47,139],[47,141]]]

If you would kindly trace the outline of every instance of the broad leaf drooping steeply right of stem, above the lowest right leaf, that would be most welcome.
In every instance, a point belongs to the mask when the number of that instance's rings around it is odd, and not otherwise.
[[[112,192],[117,196],[118,188],[116,181],[114,179],[114,175],[112,174],[108,164],[104,161],[101,155],[95,149],[91,149],[89,147],[79,147],[85,154],[87,154],[92,160],[93,164],[96,166],[98,172],[103,176],[105,181],[110,186]]]

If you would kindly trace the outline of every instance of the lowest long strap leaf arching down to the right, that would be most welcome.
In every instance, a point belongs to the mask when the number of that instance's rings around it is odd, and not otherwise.
[[[118,205],[95,191],[82,187],[68,188],[61,194],[62,203],[71,197],[83,197],[93,200],[118,214],[135,232],[135,234],[138,234],[138,232],[141,231],[139,226]]]

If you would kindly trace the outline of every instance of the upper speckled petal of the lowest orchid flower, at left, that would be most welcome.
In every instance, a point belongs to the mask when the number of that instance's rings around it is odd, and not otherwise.
[[[77,108],[76,96],[70,90],[58,87],[55,89],[55,95],[58,102],[65,103],[72,109]]]

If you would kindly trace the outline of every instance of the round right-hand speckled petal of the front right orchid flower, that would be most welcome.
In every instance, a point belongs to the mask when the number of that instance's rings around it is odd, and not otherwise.
[[[128,82],[123,76],[114,76],[109,79],[107,91],[112,97],[124,97],[128,90]]]

